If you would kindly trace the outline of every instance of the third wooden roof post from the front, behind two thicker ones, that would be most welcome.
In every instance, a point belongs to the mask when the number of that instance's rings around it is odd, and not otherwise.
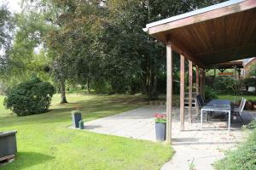
[[[189,122],[192,122],[193,63],[189,60]]]

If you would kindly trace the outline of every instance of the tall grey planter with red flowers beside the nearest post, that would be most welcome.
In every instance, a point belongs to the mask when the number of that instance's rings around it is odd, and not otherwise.
[[[166,114],[157,113],[154,115],[155,136],[157,140],[166,140]]]

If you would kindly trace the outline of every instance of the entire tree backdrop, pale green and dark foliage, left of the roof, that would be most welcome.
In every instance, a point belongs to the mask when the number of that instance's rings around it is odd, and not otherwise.
[[[67,83],[96,93],[143,93],[156,99],[166,89],[166,46],[142,28],[218,2],[23,0],[4,80],[13,85],[32,74],[54,80],[63,100]],[[38,48],[40,54],[35,53]]]

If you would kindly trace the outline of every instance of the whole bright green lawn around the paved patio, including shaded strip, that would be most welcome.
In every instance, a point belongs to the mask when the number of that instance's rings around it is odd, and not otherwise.
[[[0,131],[18,130],[18,154],[0,167],[15,169],[160,169],[173,154],[167,144],[68,129],[73,108],[81,107],[85,121],[117,114],[143,105],[141,96],[69,94],[59,105],[53,98],[48,113],[17,117],[3,108],[0,97]]]

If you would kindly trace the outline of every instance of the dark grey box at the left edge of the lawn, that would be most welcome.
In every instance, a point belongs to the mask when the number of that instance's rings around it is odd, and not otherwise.
[[[17,153],[16,133],[17,131],[0,133],[0,159]]]

